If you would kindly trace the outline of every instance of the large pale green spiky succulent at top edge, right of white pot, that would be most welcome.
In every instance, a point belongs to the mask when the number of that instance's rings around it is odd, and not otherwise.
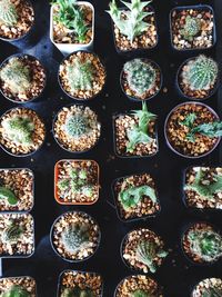
[[[121,2],[128,8],[127,11],[119,9],[115,0],[112,0],[108,13],[111,16],[120,32],[133,42],[135,37],[149,30],[150,24],[144,21],[144,18],[153,12],[144,11],[144,8],[149,6],[151,1],[131,0],[131,3],[125,1]]]

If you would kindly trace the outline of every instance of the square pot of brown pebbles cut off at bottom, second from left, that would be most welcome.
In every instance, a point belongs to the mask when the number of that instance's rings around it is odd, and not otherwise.
[[[59,277],[57,297],[102,297],[103,280],[97,273],[64,270]]]

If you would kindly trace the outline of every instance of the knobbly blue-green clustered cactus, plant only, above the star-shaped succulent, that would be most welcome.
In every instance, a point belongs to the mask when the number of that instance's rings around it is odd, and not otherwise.
[[[150,62],[133,59],[124,65],[123,71],[127,73],[130,89],[138,97],[142,97],[155,86],[157,70]]]

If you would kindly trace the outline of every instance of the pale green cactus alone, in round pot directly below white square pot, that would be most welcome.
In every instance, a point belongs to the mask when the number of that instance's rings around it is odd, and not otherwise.
[[[79,57],[67,67],[68,83],[71,91],[89,91],[93,88],[94,67],[92,61],[82,61]]]

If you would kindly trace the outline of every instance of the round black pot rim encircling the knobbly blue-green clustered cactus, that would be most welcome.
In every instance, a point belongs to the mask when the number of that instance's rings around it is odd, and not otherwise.
[[[163,83],[163,76],[162,76],[162,71],[161,71],[161,69],[160,69],[160,66],[159,66],[157,62],[154,62],[153,60],[150,60],[150,59],[147,59],[147,58],[141,58],[141,60],[144,61],[144,62],[147,62],[147,63],[151,63],[152,66],[154,66],[154,68],[157,69],[157,71],[160,72],[160,88],[159,88],[159,90],[158,90],[155,93],[153,93],[152,96],[150,96],[150,97],[148,97],[148,98],[145,98],[145,99],[140,99],[139,97],[132,97],[132,96],[129,96],[129,95],[127,95],[127,92],[125,92],[125,90],[124,90],[124,87],[123,87],[123,83],[122,83],[122,82],[123,82],[123,73],[124,73],[124,71],[123,71],[123,69],[122,69],[121,73],[120,73],[120,87],[121,87],[121,89],[122,89],[122,92],[123,92],[130,100],[132,100],[132,101],[137,101],[137,102],[148,101],[148,100],[154,98],[155,96],[158,96],[158,93],[161,91],[162,83]]]

